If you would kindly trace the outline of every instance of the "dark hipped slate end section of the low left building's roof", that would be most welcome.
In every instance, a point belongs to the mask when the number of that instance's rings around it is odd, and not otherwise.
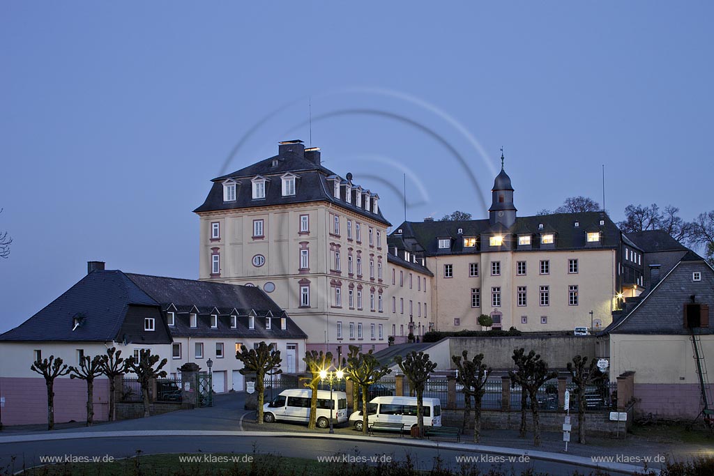
[[[18,327],[0,335],[0,341],[117,340],[129,305],[158,306],[121,271],[94,271],[66,290]],[[76,315],[84,320],[76,330]]]

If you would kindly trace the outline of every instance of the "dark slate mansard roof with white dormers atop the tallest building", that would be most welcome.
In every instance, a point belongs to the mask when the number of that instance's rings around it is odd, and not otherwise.
[[[275,160],[277,160],[277,166],[273,167],[273,161]],[[294,173],[299,178],[296,179],[295,195],[283,197],[281,176],[288,172]],[[258,175],[268,179],[268,182],[266,182],[266,198],[254,200],[251,178],[255,178]],[[208,192],[206,201],[196,208],[194,212],[201,213],[204,211],[233,210],[235,208],[326,201],[383,223],[385,226],[391,226],[391,223],[382,215],[381,210],[378,213],[372,213],[364,208],[359,208],[354,204],[354,201],[347,203],[342,199],[335,198],[333,196],[333,183],[332,181],[328,182],[328,177],[330,176],[337,177],[333,171],[313,163],[301,153],[283,152],[277,156],[243,167],[233,173],[213,178],[213,186],[211,191]],[[239,183],[236,186],[236,201],[223,201],[223,181],[228,178],[232,178]],[[353,185],[353,188],[356,188],[356,185]]]

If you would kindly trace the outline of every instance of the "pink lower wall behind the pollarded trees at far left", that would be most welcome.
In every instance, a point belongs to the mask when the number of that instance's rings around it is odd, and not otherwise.
[[[47,386],[44,378],[0,378],[5,397],[3,425],[47,423]],[[54,381],[54,422],[86,422],[87,385],[84,380]],[[94,380],[94,420],[109,419],[109,380]]]

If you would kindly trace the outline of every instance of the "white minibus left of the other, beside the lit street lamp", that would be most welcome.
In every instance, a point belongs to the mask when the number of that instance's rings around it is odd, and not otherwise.
[[[283,390],[272,402],[263,405],[263,421],[272,423],[276,420],[307,423],[310,419],[310,400],[312,390],[307,388],[293,388]],[[318,428],[330,426],[330,406],[332,406],[333,423],[347,421],[347,395],[344,392],[332,393],[332,405],[329,390],[317,391],[317,420]]]

